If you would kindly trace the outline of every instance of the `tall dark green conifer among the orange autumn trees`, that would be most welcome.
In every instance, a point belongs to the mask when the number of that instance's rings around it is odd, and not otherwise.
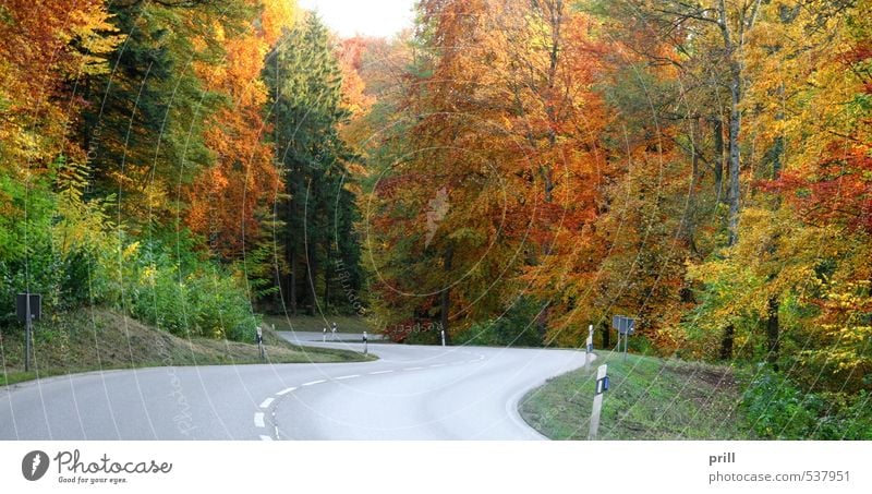
[[[275,121],[276,161],[284,177],[282,201],[275,204],[276,285],[292,314],[310,315],[351,305],[349,293],[362,286],[356,224],[353,149],[340,128],[343,81],[327,28],[315,14],[284,33],[267,57],[269,119]]]

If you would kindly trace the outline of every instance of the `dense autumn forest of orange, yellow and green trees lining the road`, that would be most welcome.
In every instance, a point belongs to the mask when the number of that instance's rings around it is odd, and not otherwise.
[[[872,1],[0,5],[0,328],[109,308],[252,341],[391,339],[744,369],[761,437],[872,434]]]

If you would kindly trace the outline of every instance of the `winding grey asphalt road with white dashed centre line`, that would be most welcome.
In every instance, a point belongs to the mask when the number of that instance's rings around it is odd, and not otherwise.
[[[584,363],[570,350],[368,348],[378,361],[106,371],[0,388],[0,439],[542,439],[518,401]]]

